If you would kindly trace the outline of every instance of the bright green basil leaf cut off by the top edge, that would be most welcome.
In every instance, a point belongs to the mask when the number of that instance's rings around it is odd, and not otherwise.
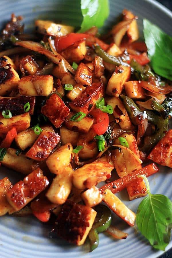
[[[81,0],[83,21],[79,32],[84,32],[92,26],[102,27],[109,15],[108,0]]]

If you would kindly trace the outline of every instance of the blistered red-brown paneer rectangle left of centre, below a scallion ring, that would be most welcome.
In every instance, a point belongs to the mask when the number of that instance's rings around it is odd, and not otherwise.
[[[43,130],[38,136],[34,145],[26,153],[26,157],[36,161],[43,161],[48,158],[50,152],[56,147],[60,136],[54,132]]]

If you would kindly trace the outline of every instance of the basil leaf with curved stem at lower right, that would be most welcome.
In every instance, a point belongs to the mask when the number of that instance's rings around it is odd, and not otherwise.
[[[140,175],[146,182],[148,196],[138,206],[136,223],[140,232],[149,240],[150,245],[165,250],[170,241],[172,228],[172,202],[162,194],[151,194],[147,177]]]

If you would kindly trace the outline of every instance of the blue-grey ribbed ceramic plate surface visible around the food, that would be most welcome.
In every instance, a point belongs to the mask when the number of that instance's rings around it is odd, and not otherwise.
[[[76,26],[82,20],[75,6],[79,5],[79,0],[1,0],[0,1],[0,24],[9,20],[11,13],[23,15],[25,28],[32,30],[34,19],[54,19],[68,22],[69,25]],[[142,19],[145,17],[157,24],[168,34],[171,34],[172,13],[155,1],[144,0],[111,0],[110,16],[105,23],[105,28],[110,28],[122,9],[129,9],[138,15],[138,26],[142,36]],[[75,19],[70,18],[70,14],[75,14]],[[8,176],[16,183],[20,175],[14,171],[9,171],[0,167],[0,178]],[[168,196],[172,200],[172,174],[167,167],[161,167],[160,172],[149,177],[152,193],[159,193]],[[128,201],[126,190],[118,193],[119,198],[134,212],[136,212],[141,198]],[[0,217],[0,257],[116,257],[116,258],[155,258],[161,255],[162,251],[151,248],[148,241],[137,232],[136,228],[129,228],[117,216],[113,218],[113,224],[129,233],[126,240],[114,240],[105,234],[99,234],[99,247],[89,253],[89,243],[81,247],[75,247],[61,239],[48,238],[49,226],[43,225],[36,218],[15,218],[11,216]],[[167,249],[172,247],[172,241]],[[166,250],[167,250],[166,249]]]

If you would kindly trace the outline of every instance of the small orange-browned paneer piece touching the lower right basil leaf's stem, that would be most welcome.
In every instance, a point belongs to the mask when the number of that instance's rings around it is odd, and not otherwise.
[[[137,178],[127,187],[130,201],[143,197],[147,194],[147,188],[142,178]]]

